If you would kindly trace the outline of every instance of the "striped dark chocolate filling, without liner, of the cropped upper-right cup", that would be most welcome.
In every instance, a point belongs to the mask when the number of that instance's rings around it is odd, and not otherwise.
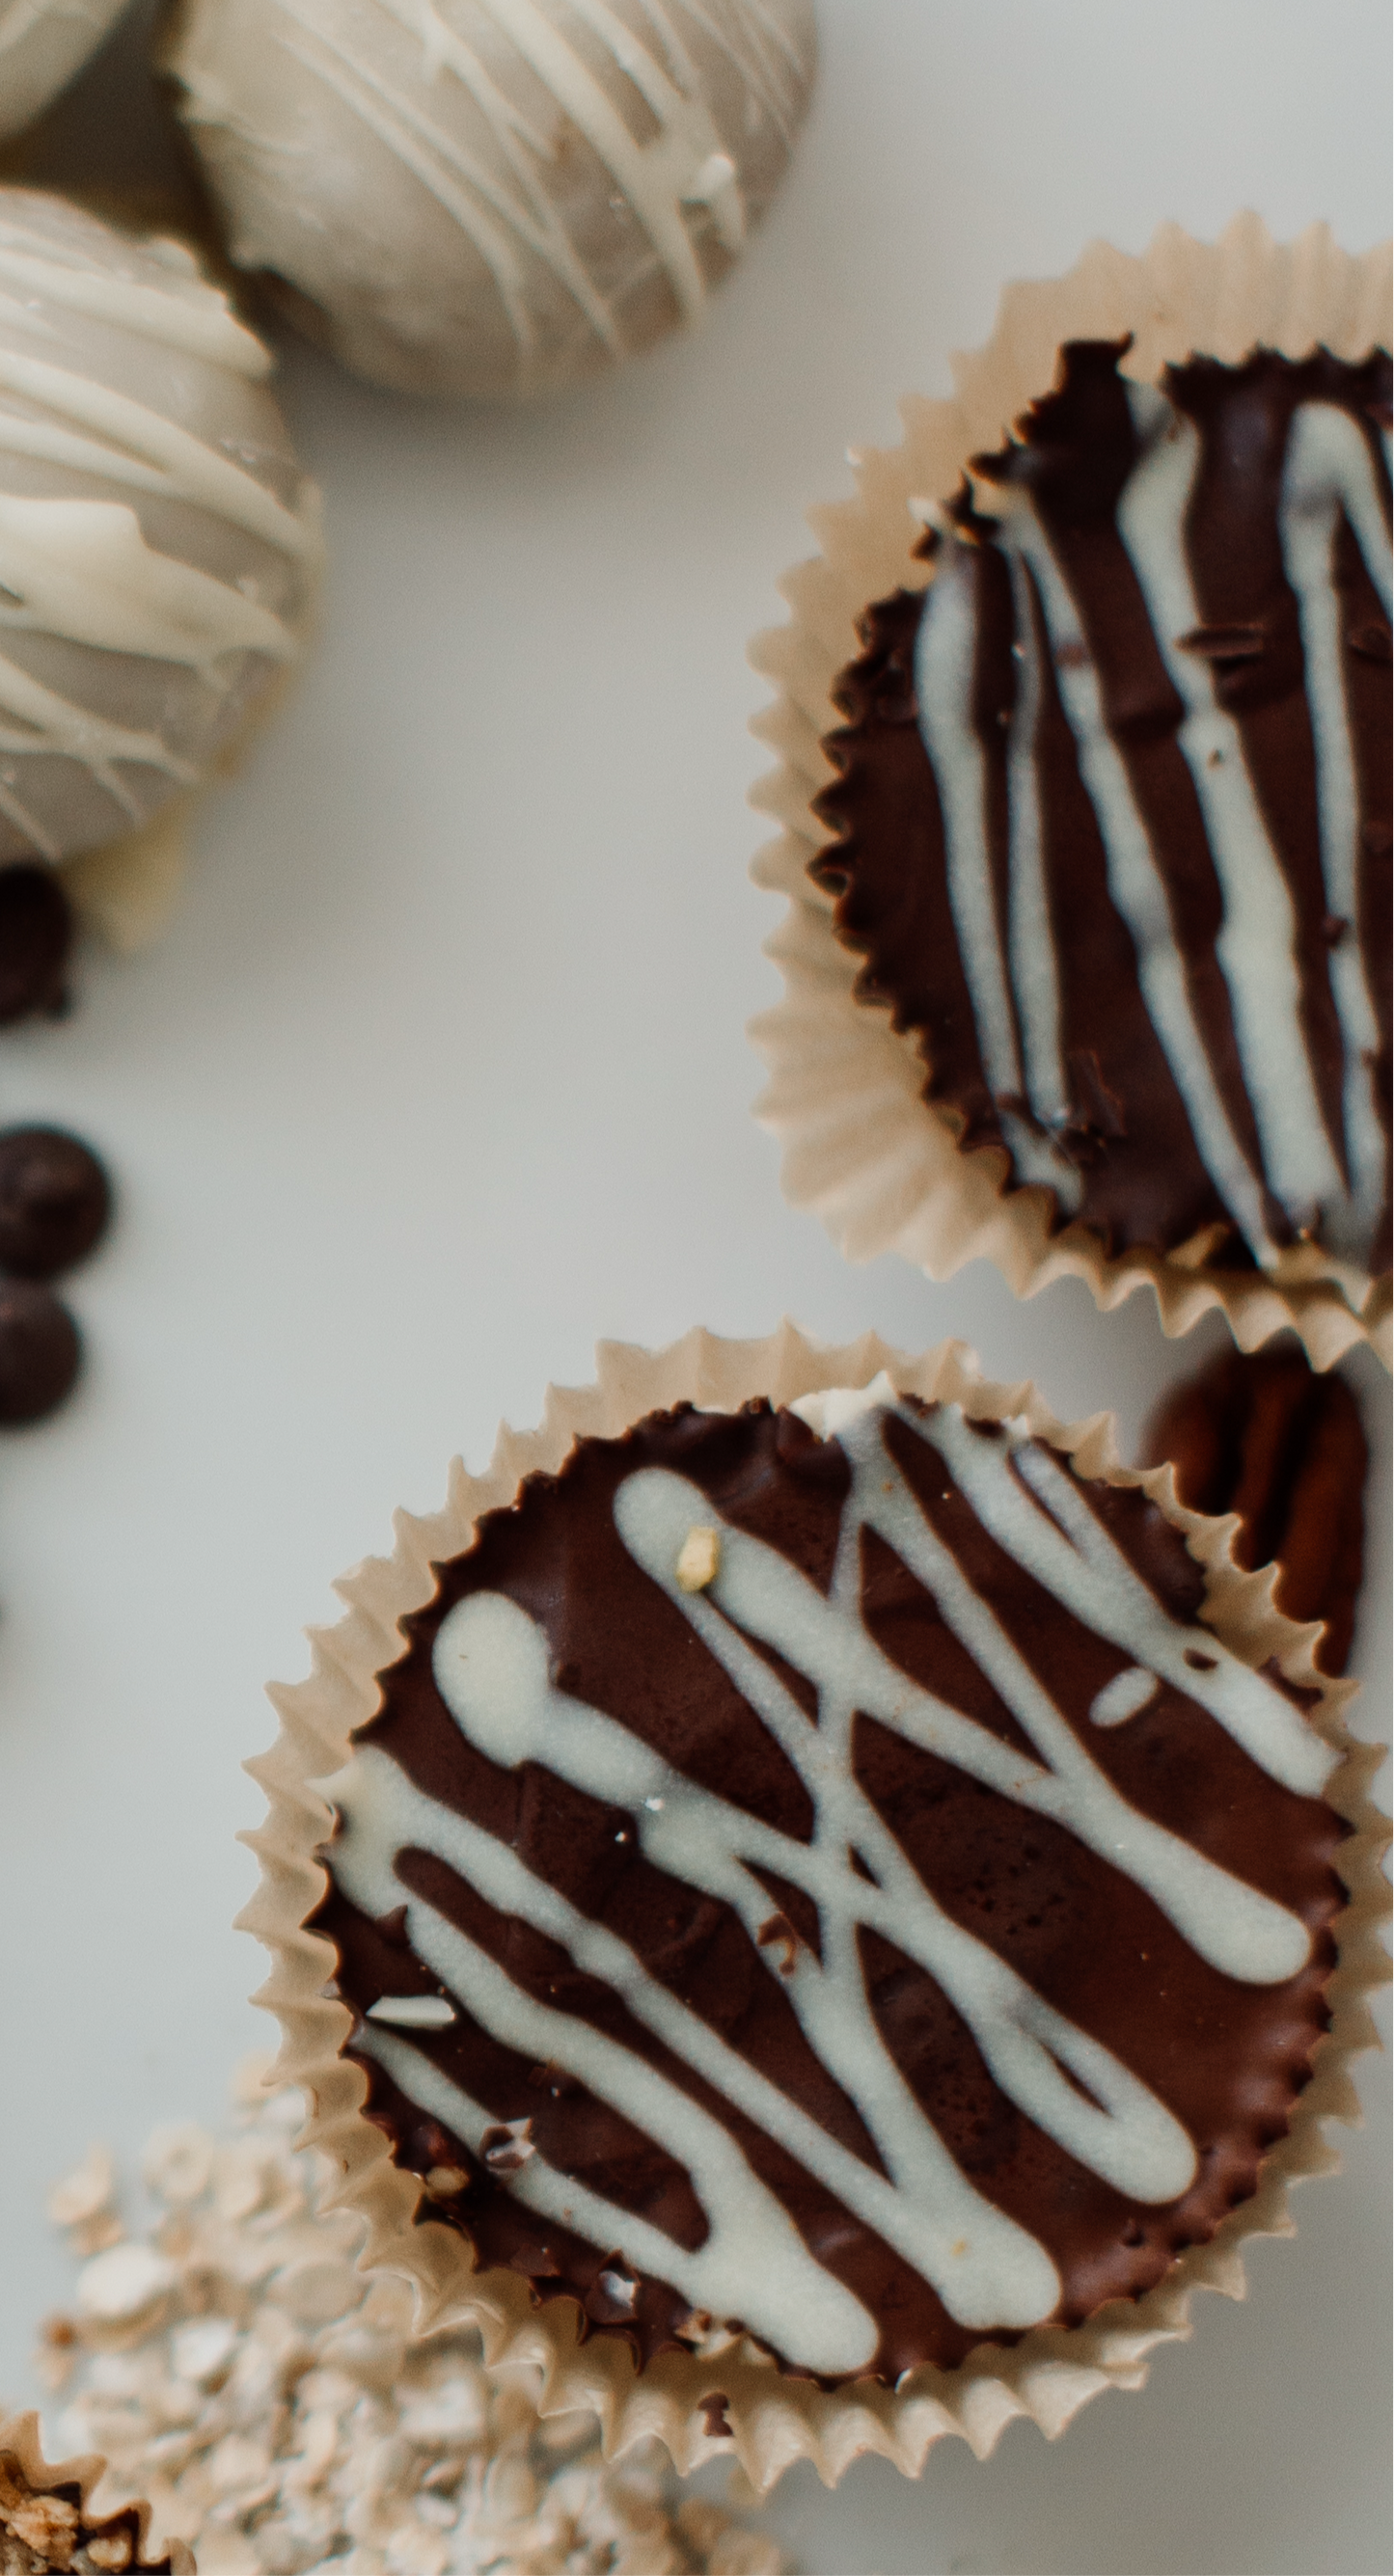
[[[1062,350],[866,611],[814,876],[1054,1221],[1394,1262],[1394,358]]]

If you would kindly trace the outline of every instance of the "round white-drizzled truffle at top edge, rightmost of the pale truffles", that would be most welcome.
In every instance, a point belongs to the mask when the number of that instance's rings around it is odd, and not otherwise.
[[[539,394],[693,322],[765,211],[812,0],[178,0],[229,252],[361,376]]]

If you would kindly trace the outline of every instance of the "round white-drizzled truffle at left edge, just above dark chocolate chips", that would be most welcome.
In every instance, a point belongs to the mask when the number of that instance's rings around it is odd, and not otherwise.
[[[0,188],[0,860],[142,829],[296,659],[320,510],[178,242]]]

